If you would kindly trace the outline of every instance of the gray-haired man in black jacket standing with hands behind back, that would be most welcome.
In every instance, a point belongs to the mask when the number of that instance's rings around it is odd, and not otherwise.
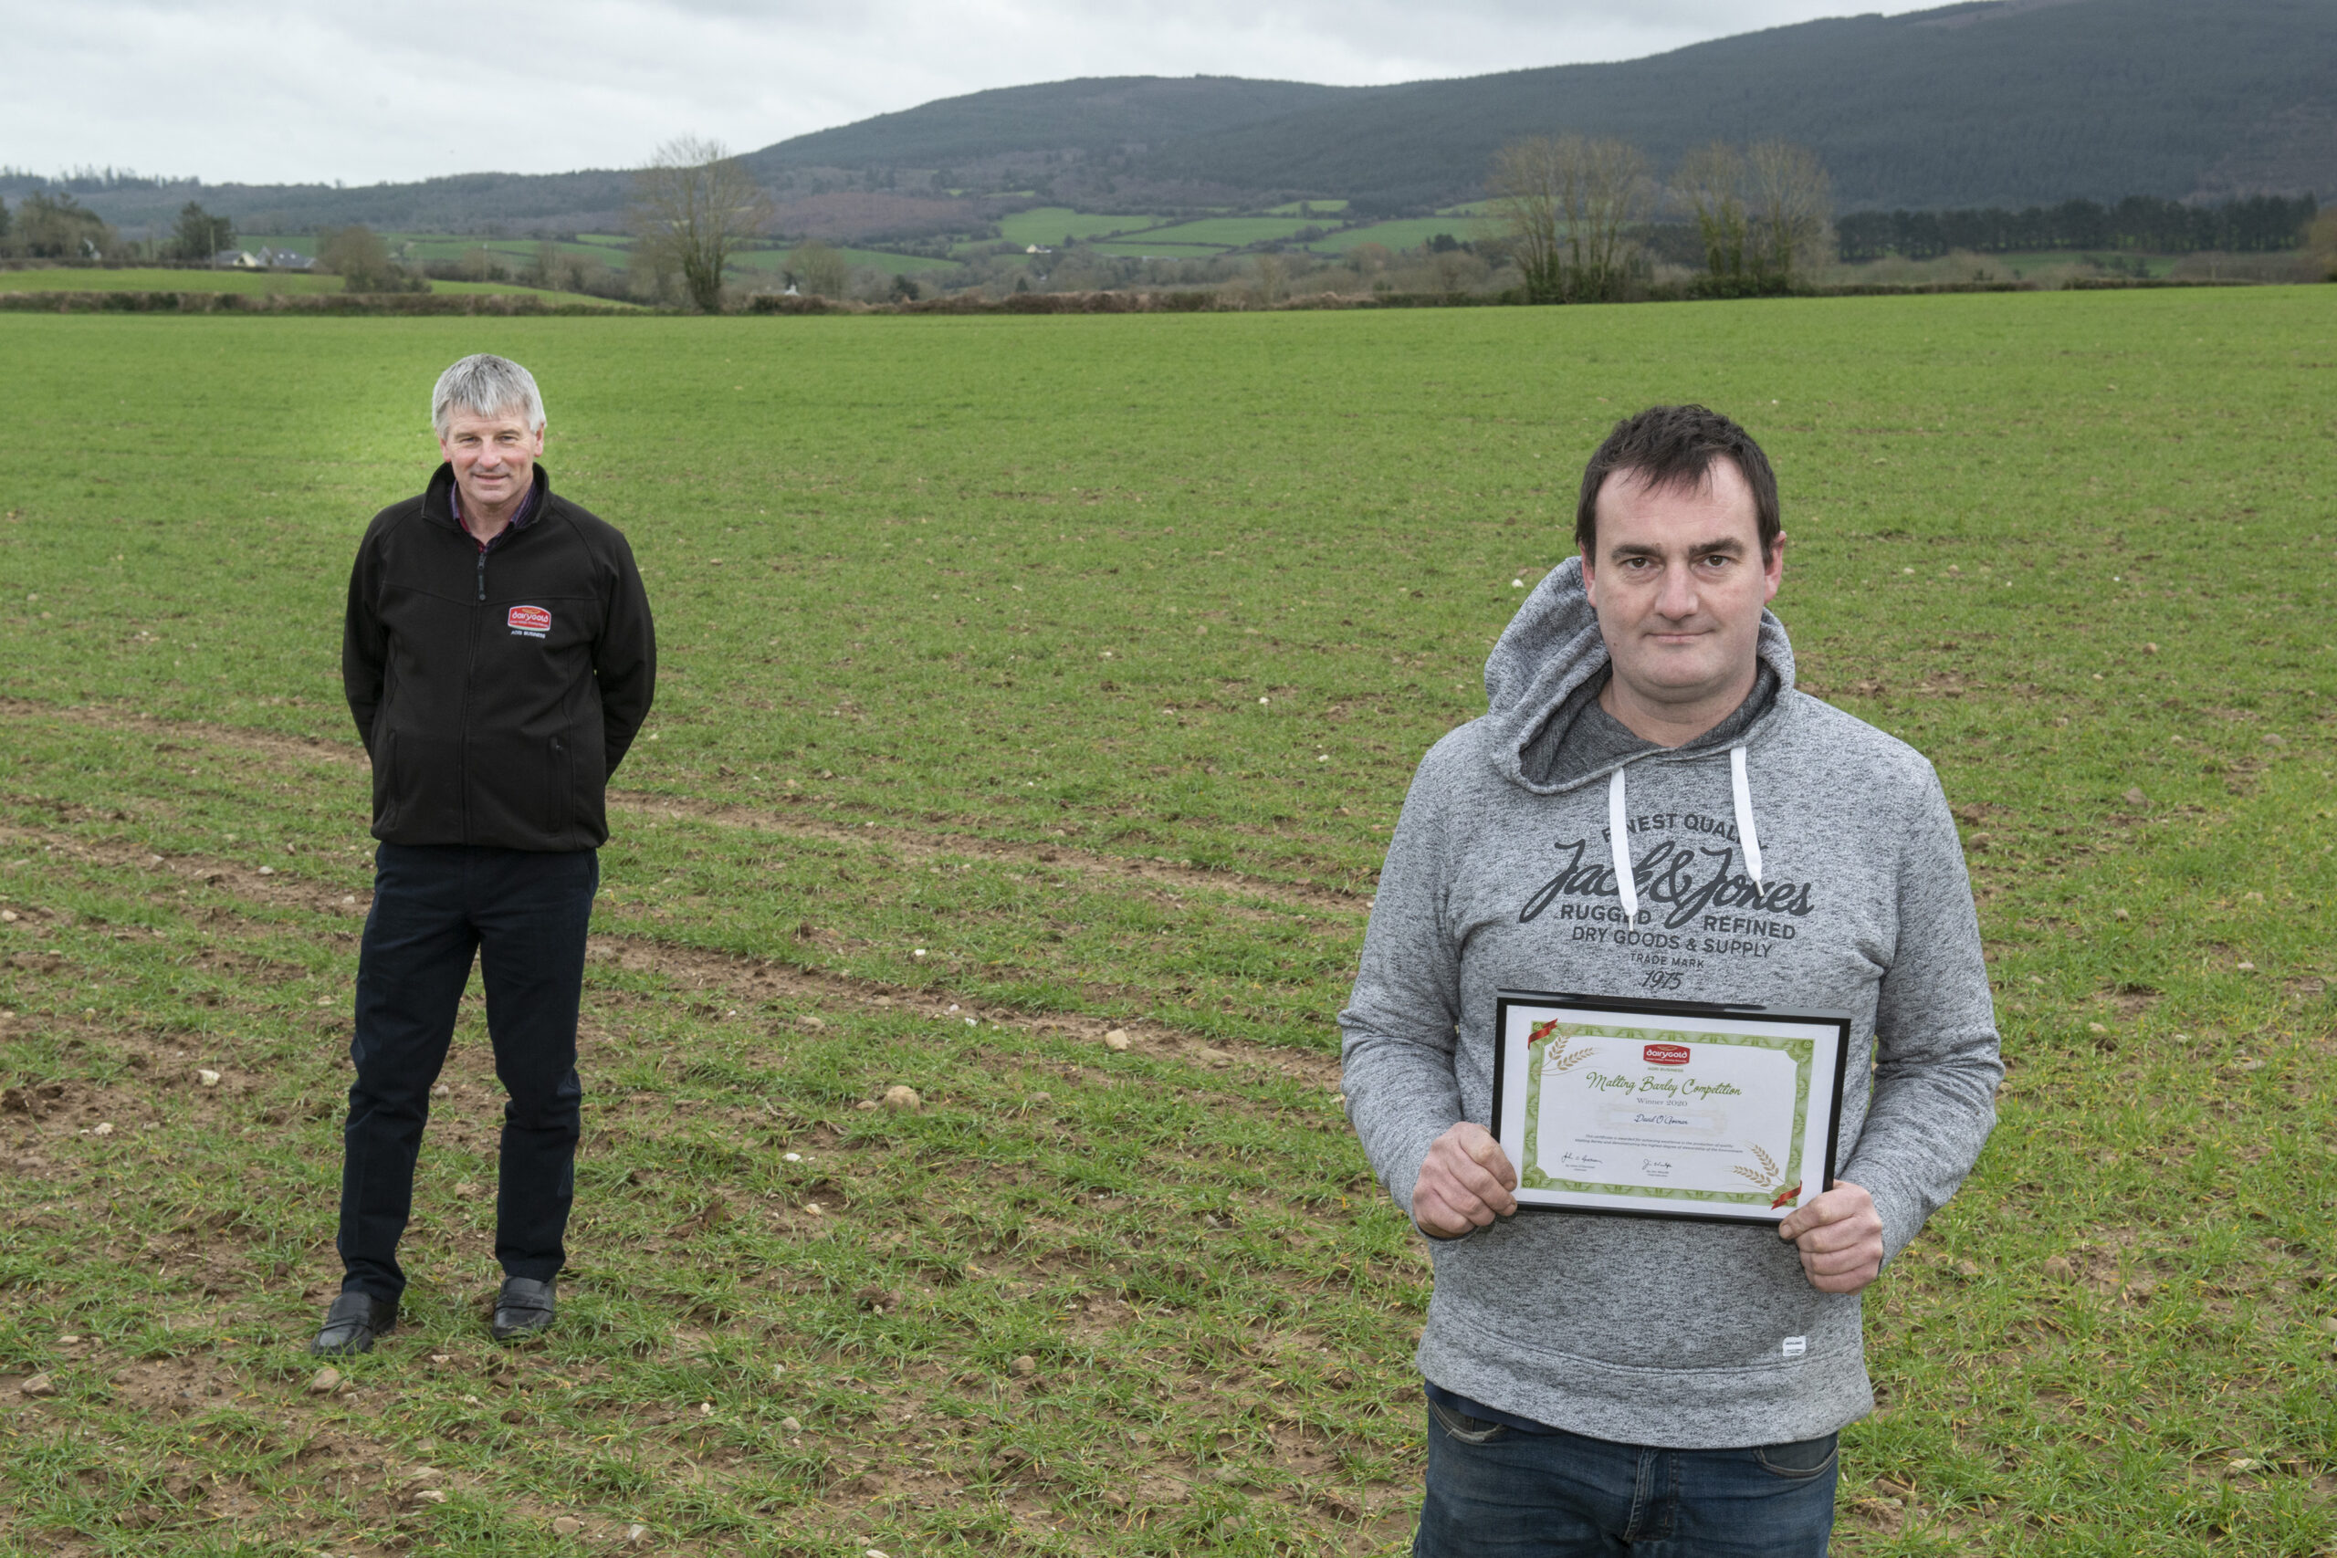
[[[552,495],[545,402],[502,357],[463,357],[430,418],[446,455],[367,526],[348,577],[341,680],[374,759],[374,906],[341,1163],[341,1294],[313,1352],[397,1324],[397,1240],[430,1086],[472,955],[502,1110],[498,1341],[552,1324],[584,1096],[575,1070],[584,930],[608,775],[650,712],[657,635],[615,526]]]

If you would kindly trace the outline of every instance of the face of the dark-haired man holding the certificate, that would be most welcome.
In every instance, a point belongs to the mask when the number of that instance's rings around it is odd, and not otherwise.
[[[1713,460],[1690,488],[1615,472],[1599,488],[1596,549],[1582,558],[1582,582],[1631,694],[1692,705],[1753,675],[1760,612],[1785,577],[1785,537],[1764,561],[1753,488],[1734,460]]]

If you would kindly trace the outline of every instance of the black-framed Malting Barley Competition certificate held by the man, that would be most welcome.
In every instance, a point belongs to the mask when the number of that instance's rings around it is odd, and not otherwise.
[[[1517,1203],[1778,1224],[1835,1184],[1849,1011],[1500,990]]]

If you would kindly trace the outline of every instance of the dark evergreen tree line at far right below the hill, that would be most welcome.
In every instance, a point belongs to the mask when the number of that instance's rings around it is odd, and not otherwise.
[[[2185,206],[2129,194],[2115,206],[2061,201],[2003,210],[1856,210],[1835,222],[1849,262],[1902,255],[1935,259],[1951,250],[2019,255],[2026,250],[2138,250],[2145,255],[2276,255],[2304,241],[2314,196],[2283,201],[2260,194],[2222,206]]]

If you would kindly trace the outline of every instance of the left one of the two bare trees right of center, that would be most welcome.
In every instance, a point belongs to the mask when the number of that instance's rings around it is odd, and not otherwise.
[[[1620,297],[1631,229],[1655,196],[1648,159],[1624,140],[1528,135],[1493,157],[1493,210],[1510,229],[1526,297],[1538,304]]]

